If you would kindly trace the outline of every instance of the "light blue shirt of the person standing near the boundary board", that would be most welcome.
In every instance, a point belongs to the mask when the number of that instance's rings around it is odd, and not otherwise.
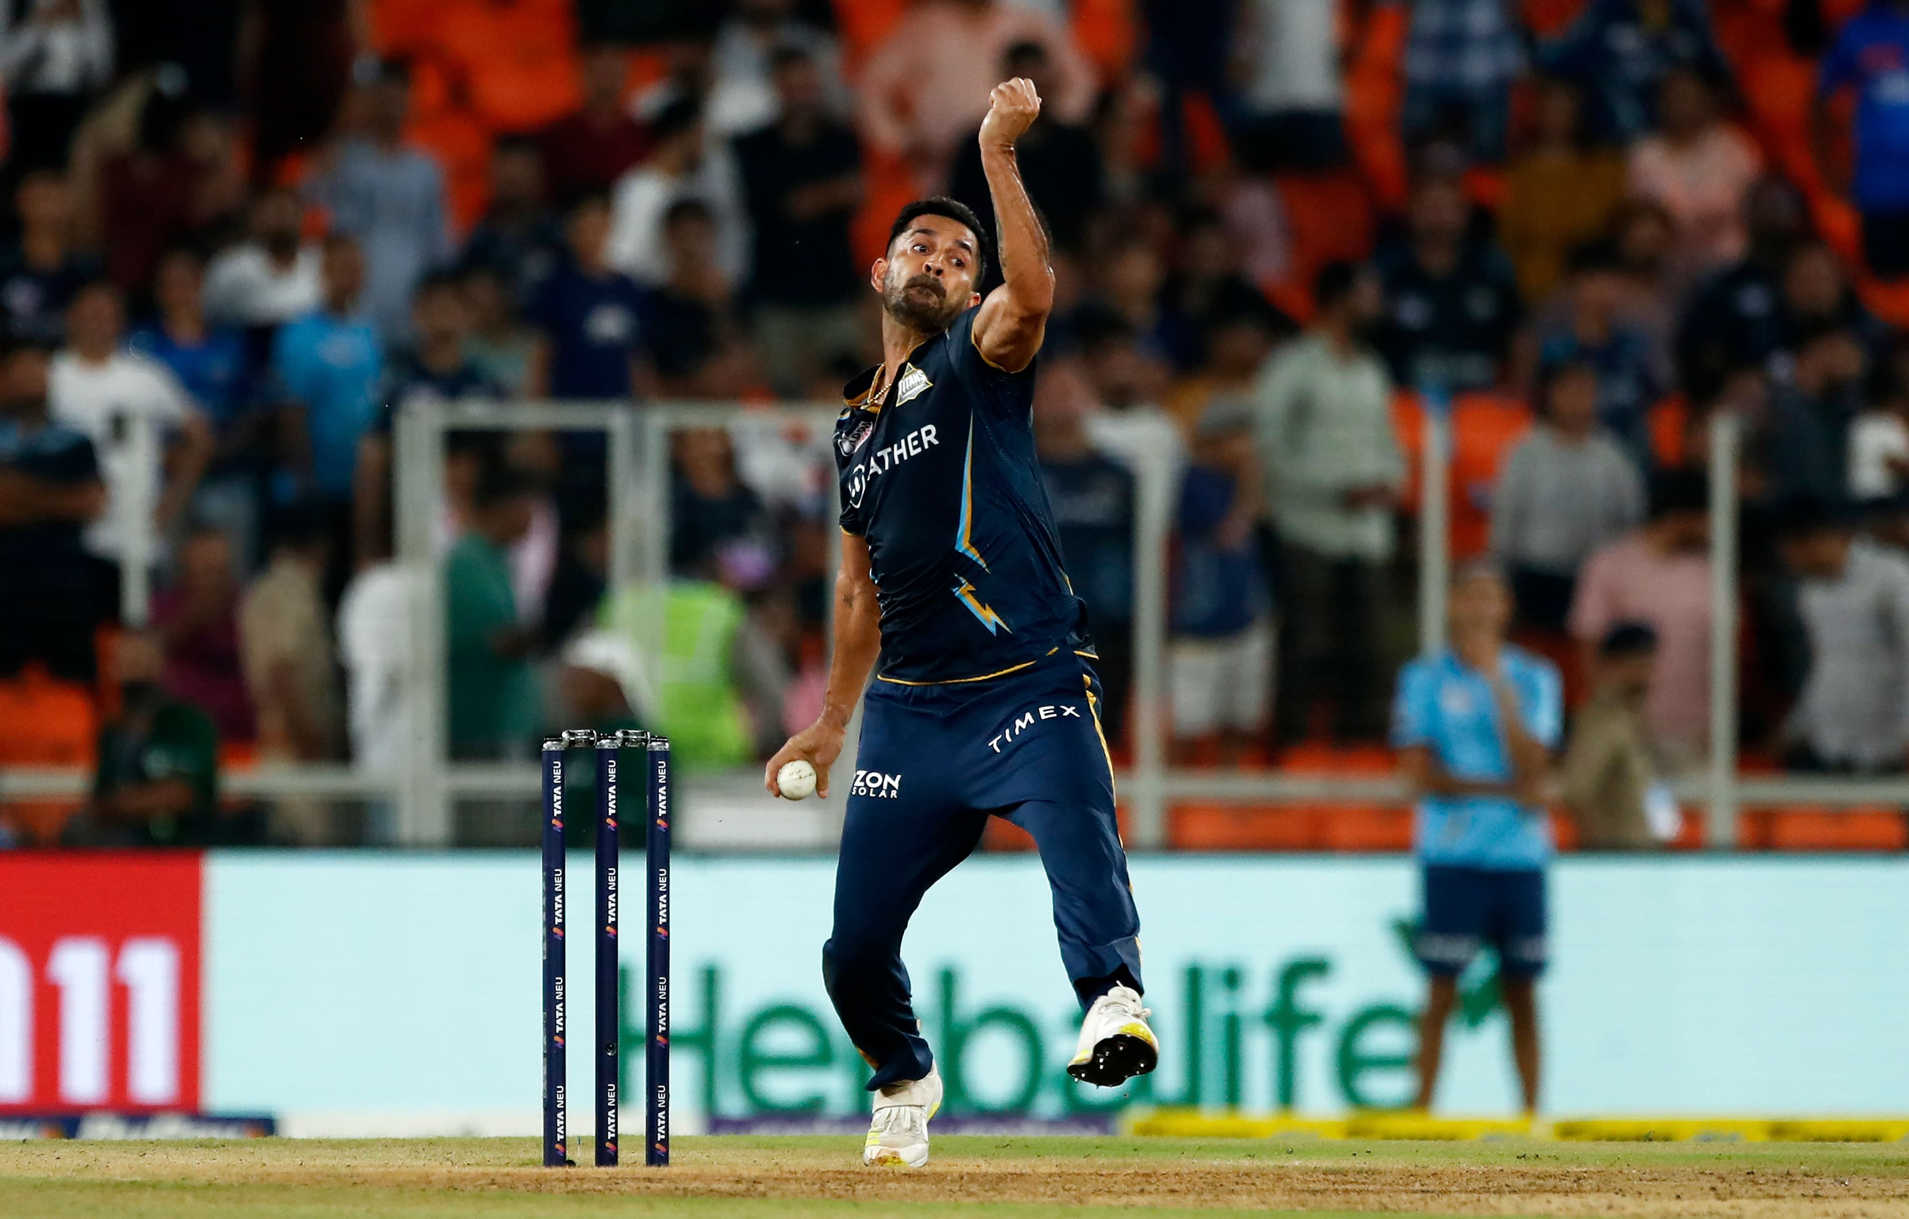
[[[1516,647],[1504,649],[1500,664],[1518,694],[1525,731],[1546,748],[1558,748],[1563,733],[1558,668]],[[1451,651],[1413,660],[1399,673],[1392,744],[1401,750],[1428,746],[1453,778],[1512,778],[1491,683]],[[1544,809],[1499,795],[1426,795],[1418,801],[1413,845],[1428,864],[1495,872],[1542,868],[1552,855],[1550,816]]]

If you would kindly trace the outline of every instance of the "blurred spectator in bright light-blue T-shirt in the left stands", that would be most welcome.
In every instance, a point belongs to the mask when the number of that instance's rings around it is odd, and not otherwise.
[[[286,408],[281,443],[290,479],[325,513],[332,563],[351,555],[351,481],[359,437],[378,414],[384,343],[359,311],[365,252],[346,235],[325,242],[325,303],[279,328],[271,370]],[[281,492],[281,498],[290,498]]]

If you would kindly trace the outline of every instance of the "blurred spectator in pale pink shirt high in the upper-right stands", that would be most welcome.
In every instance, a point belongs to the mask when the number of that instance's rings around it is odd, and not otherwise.
[[[1743,204],[1762,164],[1751,137],[1716,113],[1699,71],[1665,72],[1657,132],[1630,149],[1630,191],[1670,212],[1686,280],[1743,258]]]

